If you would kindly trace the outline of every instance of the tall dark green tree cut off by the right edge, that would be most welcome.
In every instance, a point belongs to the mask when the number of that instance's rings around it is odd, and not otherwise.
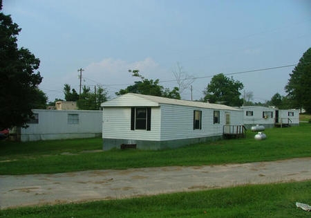
[[[290,80],[285,86],[288,98],[296,108],[304,108],[311,113],[311,48],[309,48],[299,60],[292,73]]]

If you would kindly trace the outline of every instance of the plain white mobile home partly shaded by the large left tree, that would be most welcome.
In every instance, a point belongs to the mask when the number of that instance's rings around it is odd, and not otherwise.
[[[102,111],[33,109],[28,128],[19,128],[21,141],[93,138],[102,135]]]

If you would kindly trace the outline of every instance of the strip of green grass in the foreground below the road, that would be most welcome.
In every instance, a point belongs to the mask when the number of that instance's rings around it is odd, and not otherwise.
[[[3,217],[310,217],[311,181],[1,210]]]

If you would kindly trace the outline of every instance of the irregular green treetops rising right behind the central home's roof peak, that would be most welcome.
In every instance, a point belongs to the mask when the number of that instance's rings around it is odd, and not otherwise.
[[[132,76],[140,78],[140,81],[135,81],[133,85],[126,87],[126,89],[120,89],[116,92],[117,96],[124,95],[126,93],[138,93],[149,96],[160,96],[166,98],[176,98],[180,99],[180,94],[177,87],[174,87],[172,91],[169,89],[164,89],[160,86],[160,80],[148,80],[140,75],[139,70],[129,70],[129,73],[132,73]]]

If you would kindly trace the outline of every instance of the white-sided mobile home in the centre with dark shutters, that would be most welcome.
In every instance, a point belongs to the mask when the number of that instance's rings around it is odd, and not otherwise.
[[[242,125],[243,111],[225,105],[127,93],[103,107],[103,149],[180,147],[221,138],[224,125]]]

